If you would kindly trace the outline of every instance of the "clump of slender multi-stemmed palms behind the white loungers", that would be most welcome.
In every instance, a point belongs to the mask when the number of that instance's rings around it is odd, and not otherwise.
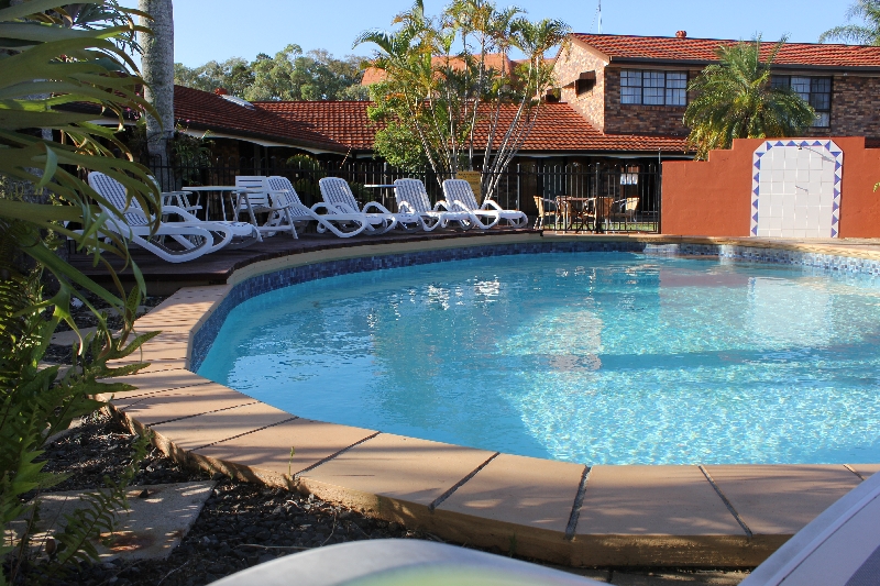
[[[418,144],[438,181],[481,164],[482,191],[492,197],[538,119],[552,85],[544,54],[565,45],[568,25],[531,22],[519,9],[498,10],[490,0],[455,0],[439,18],[416,0],[393,23],[397,31],[367,31],[355,40],[355,46],[376,46],[373,66],[385,71],[371,87],[370,117],[387,124],[376,152],[414,164],[417,157],[402,145]],[[513,49],[526,55],[516,69]]]

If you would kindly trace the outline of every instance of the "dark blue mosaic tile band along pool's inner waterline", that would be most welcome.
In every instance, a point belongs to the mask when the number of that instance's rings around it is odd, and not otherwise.
[[[398,268],[429,263],[444,263],[449,261],[464,261],[469,258],[512,254],[573,252],[632,252],[657,256],[714,256],[880,277],[880,261],[867,258],[730,244],[660,244],[639,241],[568,241],[497,244],[327,261],[257,275],[233,286],[227,297],[220,302],[217,310],[211,313],[208,320],[195,333],[193,338],[193,354],[190,356],[189,369],[194,373],[198,372],[217,334],[220,332],[223,321],[226,321],[227,316],[229,316],[229,312],[248,299],[264,292],[309,280],[383,268]]]

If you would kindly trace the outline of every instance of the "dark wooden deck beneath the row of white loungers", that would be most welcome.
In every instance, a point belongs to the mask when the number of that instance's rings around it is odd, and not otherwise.
[[[237,269],[250,264],[301,254],[328,248],[341,248],[361,246],[364,244],[388,244],[396,242],[419,242],[428,240],[447,239],[469,239],[474,241],[474,245],[485,244],[493,236],[503,234],[539,233],[540,230],[531,229],[493,229],[486,231],[453,232],[441,233],[402,233],[392,232],[381,236],[354,236],[351,239],[339,239],[328,234],[306,233],[300,234],[298,240],[292,239],[288,234],[278,234],[257,242],[245,248],[221,250],[213,254],[205,255],[188,263],[168,263],[158,256],[143,250],[133,250],[132,258],[138,264],[141,273],[146,280],[148,295],[169,295],[180,287],[197,285],[220,285]],[[119,270],[122,263],[117,258],[108,257],[111,265]],[[88,254],[72,254],[70,264],[91,277],[94,280],[109,285],[111,278],[103,266],[92,266],[92,257]],[[131,284],[134,280],[131,268],[119,273],[123,283]]]

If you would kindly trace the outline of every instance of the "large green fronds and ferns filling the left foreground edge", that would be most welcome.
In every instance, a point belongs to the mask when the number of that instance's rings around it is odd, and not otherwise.
[[[58,0],[30,0],[13,3],[0,0],[0,523],[6,526],[34,508],[22,497],[45,488],[62,477],[43,471],[38,462],[48,435],[66,429],[70,420],[91,412],[101,403],[91,396],[129,390],[124,384],[100,379],[131,374],[144,367],[132,364],[119,368],[108,361],[130,355],[150,335],[129,341],[134,311],[144,292],[143,279],[127,296],[119,280],[111,292],[59,258],[54,248],[67,237],[88,248],[96,263],[107,263],[107,254],[127,261],[125,242],[102,234],[109,221],[124,221],[121,212],[103,212],[96,203],[112,206],[80,179],[80,173],[100,170],[125,185],[131,199],[161,215],[157,187],[147,169],[129,158],[117,158],[112,147],[127,153],[116,136],[122,129],[123,112],[134,109],[152,112],[138,95],[143,80],[122,47],[131,46],[136,11],[120,8],[112,0],[90,0],[58,5]],[[96,10],[79,9],[91,4]],[[103,12],[103,15],[102,15]],[[90,15],[87,15],[90,13]],[[92,20],[92,19],[97,19]],[[114,44],[117,41],[119,44]],[[120,46],[121,45],[121,46]],[[117,129],[92,124],[94,112],[65,109],[69,104],[91,104],[114,112]],[[34,131],[43,129],[48,133]],[[53,140],[53,135],[59,140]],[[76,169],[76,170],[74,170]],[[22,197],[18,186],[32,183],[47,195],[37,200]],[[112,215],[111,215],[112,214]],[[75,226],[79,226],[78,230]],[[59,237],[61,236],[61,237]],[[107,264],[108,269],[110,265]],[[51,291],[42,285],[43,274],[55,278]],[[116,274],[110,270],[111,275]],[[107,327],[106,316],[89,303],[84,291],[117,308],[124,318],[118,335]],[[38,366],[58,323],[70,318],[70,300],[79,298],[98,318],[98,332],[80,344],[74,367],[66,373],[58,366]],[[85,350],[84,350],[85,349]],[[132,475],[136,467],[132,469]],[[92,505],[68,518],[59,534],[64,549],[50,564],[76,561],[95,554],[91,540],[106,531],[110,509],[124,499],[122,484],[112,483],[110,497],[96,497]],[[13,548],[6,541],[0,555]],[[4,557],[0,584],[6,577],[23,583],[15,574],[26,553],[22,540],[18,562]],[[85,553],[84,553],[85,552]],[[56,579],[43,576],[45,582]]]

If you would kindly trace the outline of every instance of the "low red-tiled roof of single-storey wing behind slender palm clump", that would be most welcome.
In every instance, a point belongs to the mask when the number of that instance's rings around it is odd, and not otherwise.
[[[375,135],[383,124],[370,122],[366,109],[370,102],[255,102],[290,121],[305,122],[330,139],[355,151],[372,151]],[[516,114],[510,106],[502,110],[501,124],[509,124]],[[485,145],[487,124],[480,124],[476,143]],[[522,153],[573,153],[573,152],[641,152],[684,153],[688,151],[683,137],[603,134],[594,129],[568,103],[546,103],[531,130]]]

